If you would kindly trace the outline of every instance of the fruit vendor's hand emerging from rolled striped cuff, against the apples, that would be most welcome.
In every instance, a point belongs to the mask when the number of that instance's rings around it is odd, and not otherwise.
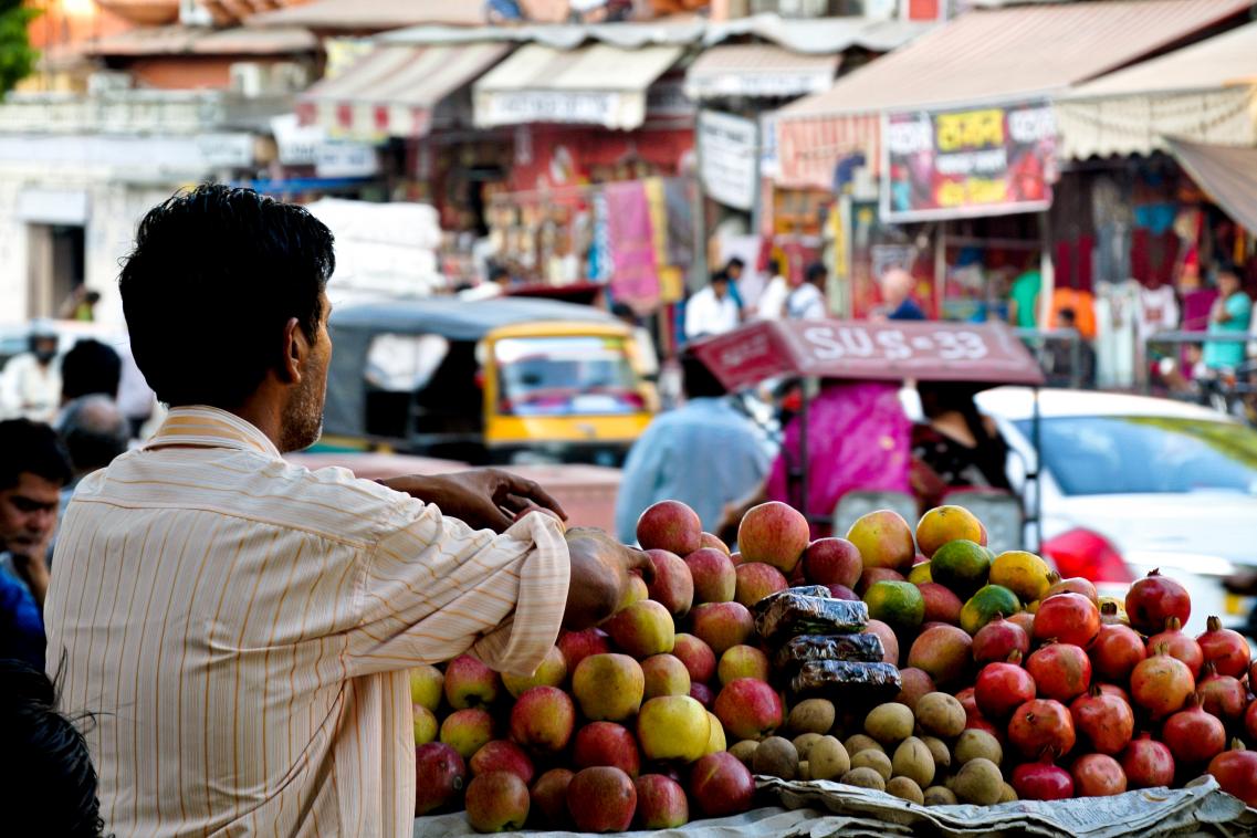
[[[655,580],[650,557],[625,547],[602,530],[576,528],[567,533],[572,574],[567,589],[563,627],[581,631],[615,613],[628,588],[628,577]]]

